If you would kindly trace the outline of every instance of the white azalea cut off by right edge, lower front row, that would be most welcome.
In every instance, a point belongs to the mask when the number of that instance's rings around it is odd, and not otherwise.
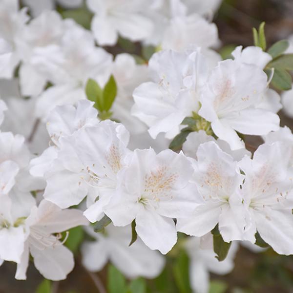
[[[291,153],[275,142],[258,147],[253,160],[245,157],[239,166],[245,172],[241,193],[248,209],[245,239],[260,236],[279,254],[293,254],[292,178],[288,163]]]

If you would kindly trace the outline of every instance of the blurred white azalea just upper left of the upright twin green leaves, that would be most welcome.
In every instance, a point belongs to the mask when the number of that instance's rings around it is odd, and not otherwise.
[[[74,105],[86,99],[84,87],[89,78],[103,87],[111,72],[112,56],[95,46],[92,35],[70,20],[66,25],[61,45],[38,48],[32,60],[54,84],[36,105],[36,116],[43,121],[56,105]]]

